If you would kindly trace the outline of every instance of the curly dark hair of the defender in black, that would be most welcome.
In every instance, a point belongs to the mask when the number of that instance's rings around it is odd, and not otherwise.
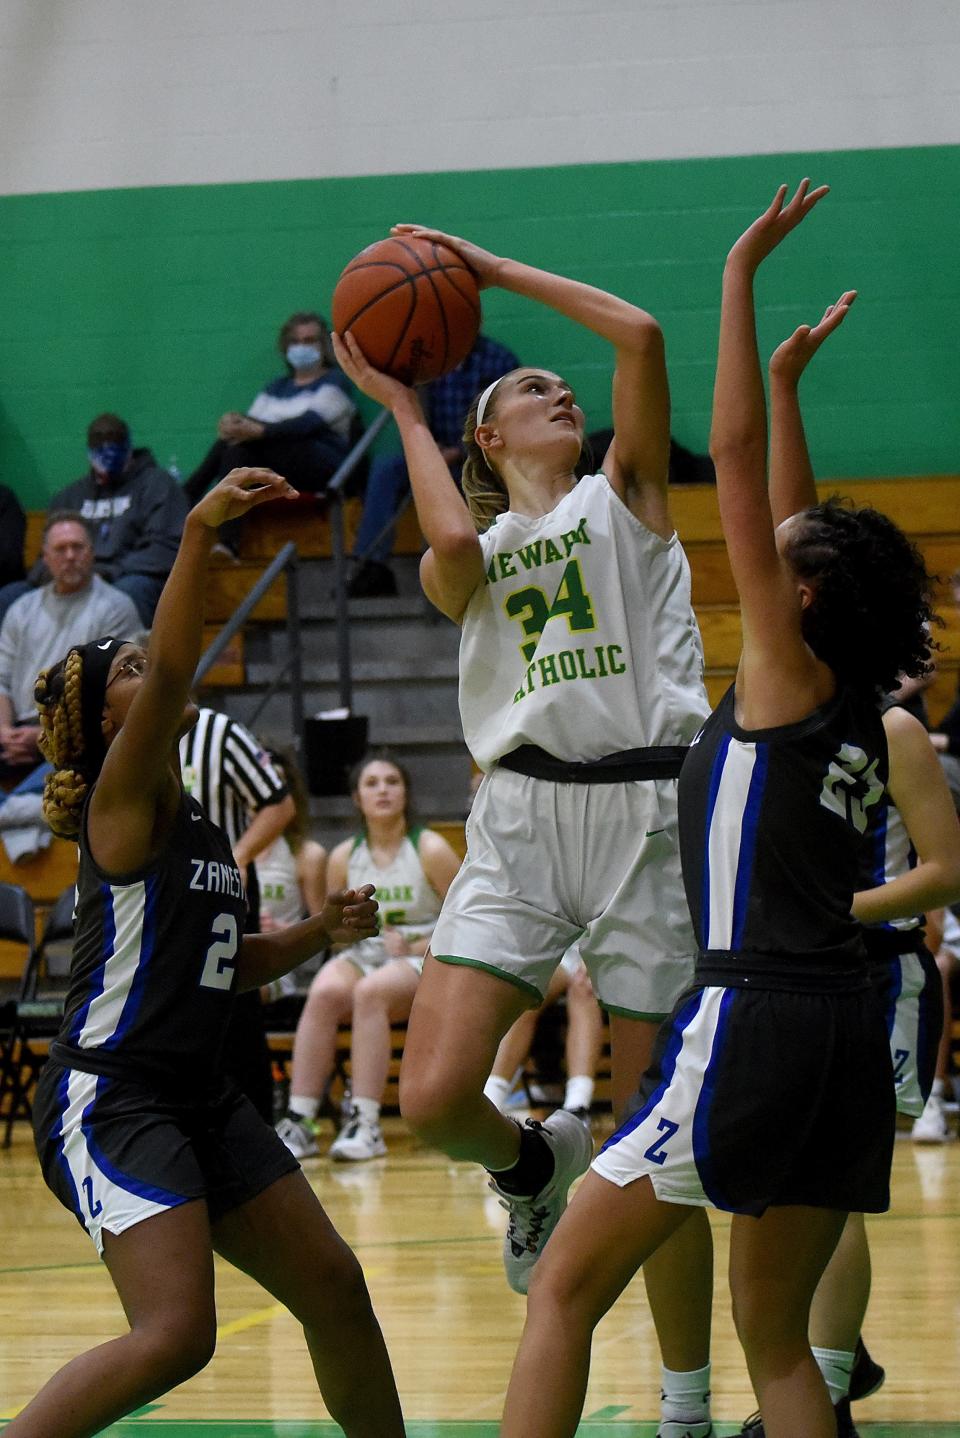
[[[862,692],[926,674],[937,649],[931,626],[941,621],[920,551],[887,515],[835,495],[800,518],[786,558],[813,587],[802,630],[816,657]]]

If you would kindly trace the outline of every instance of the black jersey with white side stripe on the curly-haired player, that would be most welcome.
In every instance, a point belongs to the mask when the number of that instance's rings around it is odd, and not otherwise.
[[[851,899],[885,782],[875,703],[841,690],[799,723],[744,731],[730,686],[680,774],[684,887],[700,951],[862,963]]]

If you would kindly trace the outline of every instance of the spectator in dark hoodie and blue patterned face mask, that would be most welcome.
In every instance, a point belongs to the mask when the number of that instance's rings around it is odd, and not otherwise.
[[[187,500],[148,449],[134,449],[118,414],[98,414],[86,431],[91,467],[50,500],[79,509],[93,526],[96,572],[124,594],[149,628],[172,568]]]

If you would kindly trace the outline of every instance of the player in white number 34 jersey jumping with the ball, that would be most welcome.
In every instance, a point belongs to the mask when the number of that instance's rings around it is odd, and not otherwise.
[[[709,707],[703,654],[667,503],[670,395],[657,321],[440,232],[395,233],[450,244],[480,286],[559,311],[615,358],[615,439],[598,473],[579,482],[585,426],[571,387],[535,367],[489,385],[466,423],[467,506],[414,391],[374,371],[351,335],[335,339],[349,377],[397,420],[430,544],[423,585],[461,626],[463,728],[486,771],[411,1014],[401,1109],[421,1137],[490,1171],[510,1211],[507,1278],[526,1291],[592,1145],[563,1112],[519,1129],[483,1086],[500,1038],[542,1001],[573,945],[609,1012],[617,1106],[690,981],[675,775]],[[664,1425],[664,1435],[700,1438],[710,1426],[710,1264],[703,1219],[647,1273],[664,1391],[670,1401],[674,1389],[698,1392],[675,1412],[690,1422]]]

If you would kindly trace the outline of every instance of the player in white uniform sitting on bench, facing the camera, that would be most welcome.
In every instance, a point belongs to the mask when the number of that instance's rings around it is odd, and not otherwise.
[[[352,1025],[352,1113],[331,1148],[342,1162],[382,1158],[379,1106],[389,1070],[389,1025],[410,1014],[440,903],[460,867],[443,835],[408,823],[407,771],[388,755],[354,771],[364,830],[331,854],[335,887],[351,874],[375,884],[381,932],[342,949],[310,985],[293,1041],[287,1113],[277,1133],[296,1158],[319,1152],[313,1120],[333,1071],[339,1024]]]

